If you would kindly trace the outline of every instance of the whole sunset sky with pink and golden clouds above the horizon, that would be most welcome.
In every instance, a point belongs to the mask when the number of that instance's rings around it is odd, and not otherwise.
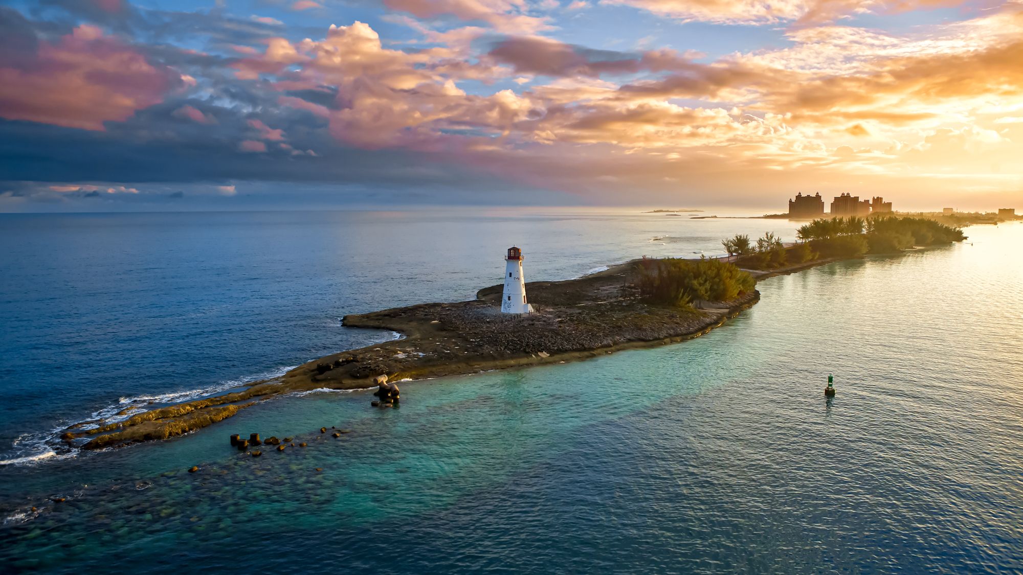
[[[1023,209],[1023,0],[2,0],[0,212]]]

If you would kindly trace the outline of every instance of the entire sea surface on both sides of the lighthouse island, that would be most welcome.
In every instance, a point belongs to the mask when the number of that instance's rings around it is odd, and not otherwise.
[[[397,410],[310,393],[167,442],[54,440],[393,338],[339,319],[472,298],[511,244],[527,280],[563,279],[794,227],[624,211],[0,216],[0,571],[1021,572],[1021,224],[762,281],[759,304],[691,342],[405,384]],[[228,445],[252,432],[309,446]]]

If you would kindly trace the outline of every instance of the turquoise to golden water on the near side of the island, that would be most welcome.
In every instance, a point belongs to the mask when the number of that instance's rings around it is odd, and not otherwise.
[[[405,384],[398,410],[275,399],[174,441],[5,466],[0,566],[1019,572],[1023,225],[968,235],[762,281],[757,306],[678,345]],[[227,444],[252,432],[309,446]]]

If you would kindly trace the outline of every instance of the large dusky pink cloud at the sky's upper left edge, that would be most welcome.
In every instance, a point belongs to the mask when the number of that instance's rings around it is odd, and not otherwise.
[[[180,74],[89,25],[56,44],[40,41],[31,69],[12,63],[0,59],[0,117],[85,130],[123,122],[182,84]]]

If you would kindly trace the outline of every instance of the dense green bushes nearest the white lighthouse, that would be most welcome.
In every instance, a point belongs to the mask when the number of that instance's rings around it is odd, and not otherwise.
[[[733,264],[712,258],[643,258],[636,262],[632,281],[643,300],[678,308],[691,308],[696,300],[731,301],[755,283]]]

